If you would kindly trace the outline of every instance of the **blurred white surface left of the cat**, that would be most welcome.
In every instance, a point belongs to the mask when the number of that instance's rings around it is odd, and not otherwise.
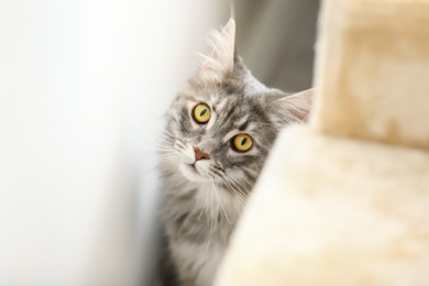
[[[150,147],[228,9],[0,1],[0,285],[148,283]]]

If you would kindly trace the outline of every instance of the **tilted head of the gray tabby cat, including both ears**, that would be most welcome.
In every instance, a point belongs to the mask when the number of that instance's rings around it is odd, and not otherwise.
[[[235,22],[212,41],[212,53],[177,94],[164,150],[172,168],[193,182],[248,193],[283,127],[305,121],[311,91],[287,95],[265,87],[235,52]]]

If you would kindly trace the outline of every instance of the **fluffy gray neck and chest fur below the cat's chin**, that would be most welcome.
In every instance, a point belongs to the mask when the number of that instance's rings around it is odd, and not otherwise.
[[[179,280],[211,285],[244,204],[222,186],[180,177],[174,164],[164,169],[169,174],[163,177],[165,230],[174,241],[170,258],[178,266]]]

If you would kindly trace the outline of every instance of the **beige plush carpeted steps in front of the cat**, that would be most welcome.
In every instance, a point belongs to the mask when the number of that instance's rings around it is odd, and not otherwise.
[[[216,285],[429,285],[429,1],[326,0],[315,86]]]

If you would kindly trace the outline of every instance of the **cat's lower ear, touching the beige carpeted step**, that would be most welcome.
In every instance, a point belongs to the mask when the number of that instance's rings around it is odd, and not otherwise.
[[[270,103],[268,117],[273,124],[282,128],[290,122],[305,122],[311,109],[315,89],[276,99]]]

